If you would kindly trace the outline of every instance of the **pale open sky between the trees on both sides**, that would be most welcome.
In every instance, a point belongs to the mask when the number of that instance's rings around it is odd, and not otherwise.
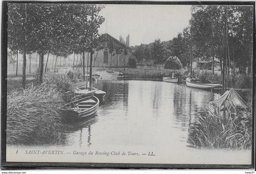
[[[130,34],[130,46],[168,41],[189,25],[191,5],[121,5],[107,4],[100,14],[105,21],[99,33],[119,40]]]

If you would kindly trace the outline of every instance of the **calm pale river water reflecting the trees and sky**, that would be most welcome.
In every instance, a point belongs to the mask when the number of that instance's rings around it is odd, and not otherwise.
[[[96,87],[107,92],[98,115],[66,127],[62,145],[190,148],[196,112],[219,97],[166,82],[99,81]]]

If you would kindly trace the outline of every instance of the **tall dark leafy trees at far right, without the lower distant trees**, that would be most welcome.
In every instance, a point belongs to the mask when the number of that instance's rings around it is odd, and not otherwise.
[[[222,62],[224,50],[224,5],[193,5],[194,44],[197,55],[207,60],[219,58]],[[241,73],[251,69],[252,21],[251,6],[230,5],[227,7],[227,29],[229,40],[229,60],[233,68]],[[213,71],[214,72],[214,71]]]

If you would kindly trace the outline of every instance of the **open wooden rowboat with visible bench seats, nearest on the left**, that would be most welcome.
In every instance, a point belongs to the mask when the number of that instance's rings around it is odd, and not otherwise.
[[[93,116],[98,111],[98,106],[99,99],[97,97],[83,97],[64,105],[64,108],[60,109],[60,114],[62,114],[67,122],[74,122]]]

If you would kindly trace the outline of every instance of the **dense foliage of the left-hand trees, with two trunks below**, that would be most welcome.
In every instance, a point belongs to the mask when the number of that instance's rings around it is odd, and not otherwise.
[[[102,8],[95,4],[9,3],[8,47],[25,54],[23,66],[26,52],[37,52],[42,58],[48,52],[67,57],[73,52],[93,51],[104,22],[99,15]],[[43,69],[43,60],[40,62]]]

